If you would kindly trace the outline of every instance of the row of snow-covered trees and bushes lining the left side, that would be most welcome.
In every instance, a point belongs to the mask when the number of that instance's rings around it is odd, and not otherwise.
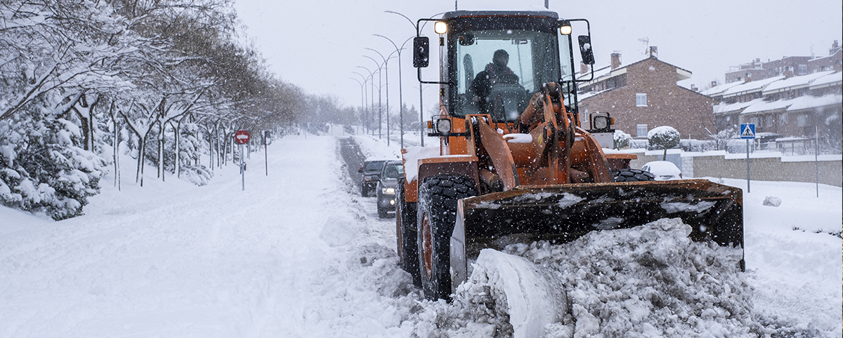
[[[232,0],[0,1],[0,203],[66,219],[121,154],[138,184],[145,163],[202,184],[237,129],[354,115],[267,71],[242,31]]]

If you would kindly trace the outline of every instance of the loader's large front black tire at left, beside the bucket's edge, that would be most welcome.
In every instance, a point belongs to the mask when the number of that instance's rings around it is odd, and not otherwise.
[[[450,240],[457,200],[475,193],[475,182],[468,177],[437,175],[426,177],[421,183],[416,242],[421,288],[427,299],[451,299]]]

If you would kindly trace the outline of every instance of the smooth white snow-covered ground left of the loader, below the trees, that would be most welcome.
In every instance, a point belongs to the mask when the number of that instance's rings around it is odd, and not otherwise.
[[[394,220],[365,214],[335,154],[287,137],[245,191],[229,165],[207,187],[106,177],[62,222],[0,209],[0,337],[397,335],[411,281],[372,267]]]

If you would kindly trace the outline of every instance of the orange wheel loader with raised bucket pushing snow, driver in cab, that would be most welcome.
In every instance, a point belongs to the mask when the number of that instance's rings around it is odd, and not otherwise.
[[[690,238],[744,246],[742,191],[706,180],[655,182],[605,154],[577,113],[572,23],[593,65],[588,20],[557,13],[455,11],[434,22],[438,81],[422,79],[430,43],[417,30],[419,82],[439,86],[435,147],[402,150],[396,205],[400,265],[425,298],[449,299],[481,249],[681,218]],[[593,78],[593,66],[591,77]],[[608,115],[590,124],[610,125]],[[593,129],[593,128],[592,128]],[[741,269],[744,267],[741,261]]]

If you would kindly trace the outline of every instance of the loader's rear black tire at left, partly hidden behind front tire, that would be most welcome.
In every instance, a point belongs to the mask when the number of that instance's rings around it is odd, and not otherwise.
[[[416,244],[416,203],[406,202],[404,180],[398,180],[395,188],[395,237],[398,264],[413,277],[413,285],[421,288],[419,272],[419,250]]]

